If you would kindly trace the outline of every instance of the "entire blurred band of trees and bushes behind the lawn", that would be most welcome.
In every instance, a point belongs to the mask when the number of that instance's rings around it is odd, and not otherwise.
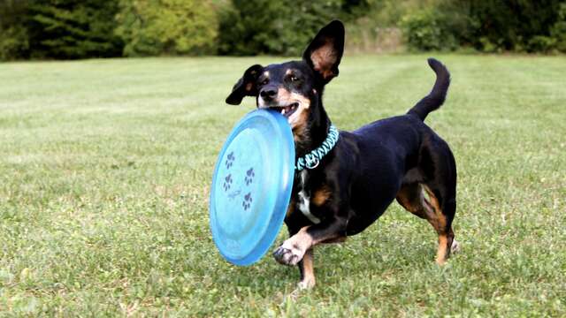
[[[352,51],[566,52],[566,0],[0,0],[0,59],[299,56],[331,19]]]

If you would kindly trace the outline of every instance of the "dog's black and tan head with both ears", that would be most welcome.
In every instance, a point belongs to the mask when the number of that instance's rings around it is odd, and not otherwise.
[[[255,96],[257,108],[278,110],[294,132],[303,130],[313,109],[321,107],[325,85],[338,76],[343,51],[344,25],[334,20],[318,32],[301,61],[250,66],[226,102],[238,105],[245,96]]]

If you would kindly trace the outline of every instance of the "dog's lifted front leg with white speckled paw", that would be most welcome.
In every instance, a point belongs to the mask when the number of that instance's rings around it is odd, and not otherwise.
[[[296,265],[313,246],[330,239],[346,236],[346,219],[335,217],[315,225],[303,227],[291,238],[283,242],[273,253],[276,261],[285,265]]]

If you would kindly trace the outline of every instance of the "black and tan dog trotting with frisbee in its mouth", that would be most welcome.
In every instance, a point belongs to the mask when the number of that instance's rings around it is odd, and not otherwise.
[[[307,155],[329,133],[331,121],[322,95],[325,84],[338,75],[343,49],[344,26],[333,21],[310,42],[302,61],[249,67],[226,102],[236,105],[244,96],[255,96],[258,108],[280,111],[293,129],[297,158]],[[290,238],[273,256],[282,264],[298,265],[300,287],[315,284],[314,246],[363,231],[394,199],[432,224],[439,235],[439,264],[457,246],[452,231],[454,156],[423,122],[444,102],[450,75],[439,61],[428,62],[437,76],[432,92],[406,115],[340,132],[336,145],[316,167],[295,171],[285,219]]]

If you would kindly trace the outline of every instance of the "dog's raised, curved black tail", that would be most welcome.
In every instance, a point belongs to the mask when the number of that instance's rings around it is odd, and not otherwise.
[[[431,66],[432,71],[436,73],[436,81],[434,82],[432,91],[407,112],[407,114],[416,115],[423,121],[428,113],[440,108],[440,105],[442,105],[446,99],[448,86],[450,86],[450,73],[446,66],[432,57],[428,59],[428,64]]]

